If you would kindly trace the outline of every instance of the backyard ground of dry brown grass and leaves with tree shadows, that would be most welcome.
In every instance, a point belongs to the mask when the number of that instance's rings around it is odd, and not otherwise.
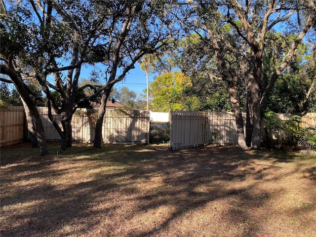
[[[315,237],[315,154],[1,149],[1,237]],[[57,151],[58,156],[57,156]]]

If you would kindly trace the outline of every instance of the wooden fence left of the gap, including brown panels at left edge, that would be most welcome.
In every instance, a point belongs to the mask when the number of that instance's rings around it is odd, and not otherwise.
[[[46,107],[38,107],[47,141],[60,141],[61,138],[48,118]],[[57,115],[53,115],[57,116]],[[73,119],[73,140],[90,143],[95,135],[96,113],[79,109]],[[26,123],[23,106],[1,110],[1,147],[23,142],[23,128]],[[119,112],[108,110],[104,116],[102,141],[104,143],[149,143],[150,115],[148,111]]]

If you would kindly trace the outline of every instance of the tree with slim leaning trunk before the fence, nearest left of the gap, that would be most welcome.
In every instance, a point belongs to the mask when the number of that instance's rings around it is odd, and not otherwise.
[[[178,29],[175,17],[168,13],[171,4],[165,0],[118,1],[123,14],[114,18],[108,37],[106,52],[110,55],[106,65],[106,83],[102,90],[101,105],[98,111],[94,147],[101,147],[102,125],[106,102],[114,84],[134,68],[144,55],[158,53],[171,45]]]

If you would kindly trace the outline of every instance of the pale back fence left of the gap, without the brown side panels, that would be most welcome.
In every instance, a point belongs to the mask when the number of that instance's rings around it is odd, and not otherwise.
[[[46,107],[38,107],[42,118],[46,140],[61,138],[48,118]],[[94,141],[97,111],[79,109],[72,119],[73,140],[90,143]],[[54,115],[57,116],[57,115]],[[149,143],[149,111],[108,110],[104,116],[102,141],[104,143]]]

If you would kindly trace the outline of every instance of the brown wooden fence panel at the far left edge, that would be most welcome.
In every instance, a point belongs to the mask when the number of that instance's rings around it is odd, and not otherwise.
[[[25,113],[23,106],[10,106],[0,110],[0,146],[23,142]]]

